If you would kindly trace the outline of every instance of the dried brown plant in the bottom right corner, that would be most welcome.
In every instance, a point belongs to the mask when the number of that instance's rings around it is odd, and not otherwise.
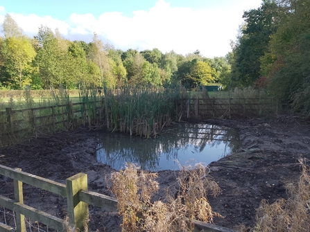
[[[277,199],[273,204],[263,199],[257,210],[257,224],[251,231],[309,231],[310,176],[306,160],[300,158],[301,175],[298,184],[287,184],[289,199]]]

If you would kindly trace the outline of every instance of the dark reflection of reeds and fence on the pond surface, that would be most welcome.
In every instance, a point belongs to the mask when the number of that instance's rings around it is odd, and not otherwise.
[[[236,140],[236,134],[231,129],[207,124],[182,123],[176,128],[164,130],[162,136],[164,139],[157,138],[153,141],[115,134],[107,136],[104,148],[98,148],[104,151],[98,151],[97,159],[113,167],[121,167],[130,161],[137,163],[143,170],[156,170],[160,155],[165,156],[167,161],[175,160],[178,159],[178,152],[187,149],[190,144],[201,152],[207,145],[225,143],[223,157],[227,155],[227,147],[234,148],[232,141]],[[132,145],[131,141],[134,139],[141,139],[141,146]]]

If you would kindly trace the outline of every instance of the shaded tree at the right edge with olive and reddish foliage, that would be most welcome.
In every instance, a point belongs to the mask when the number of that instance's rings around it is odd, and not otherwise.
[[[280,0],[279,28],[261,69],[270,93],[310,115],[310,1]]]

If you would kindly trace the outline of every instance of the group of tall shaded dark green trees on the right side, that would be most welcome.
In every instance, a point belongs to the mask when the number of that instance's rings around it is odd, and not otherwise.
[[[310,1],[264,0],[232,42],[230,85],[255,86],[310,112]]]

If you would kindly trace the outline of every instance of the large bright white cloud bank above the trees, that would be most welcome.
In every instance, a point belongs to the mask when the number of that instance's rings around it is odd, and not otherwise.
[[[254,1],[250,4],[248,0],[240,0],[229,9],[192,10],[173,8],[166,1],[158,0],[153,8],[137,10],[132,17],[122,12],[104,12],[96,19],[92,14],[73,13],[65,22],[51,16],[11,15],[24,32],[31,35],[37,34],[42,24],[53,30],[57,27],[62,35],[72,40],[89,37],[90,41],[96,32],[104,43],[112,42],[123,50],[158,48],[162,52],[174,50],[186,54],[198,49],[203,55],[214,57],[230,51],[230,39],[235,39],[243,10],[257,7],[252,6]],[[0,13],[1,9],[0,6]]]

